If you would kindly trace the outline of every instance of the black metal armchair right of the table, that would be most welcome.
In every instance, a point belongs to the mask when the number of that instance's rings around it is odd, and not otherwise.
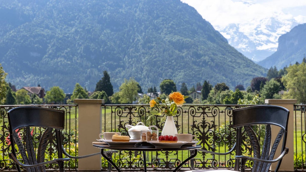
[[[203,149],[205,153],[214,155],[228,155],[236,150],[235,154],[235,171],[244,172],[246,166],[245,163],[248,160],[253,161],[252,172],[268,172],[271,163],[278,163],[275,172],[278,171],[282,158],[288,153],[289,149],[285,148],[287,139],[287,125],[289,119],[289,110],[274,105],[259,105],[252,107],[243,107],[233,109],[233,123],[232,127],[236,128],[236,143],[226,153],[211,152]],[[259,138],[256,132],[253,130],[255,125],[265,125],[265,136],[263,144],[259,146]],[[275,138],[271,138],[271,125],[278,126],[279,132]],[[277,128],[277,127],[276,127]],[[248,138],[246,137],[248,136]],[[242,155],[242,144],[245,140],[250,141],[253,148],[253,157]],[[276,149],[281,146],[280,155],[274,159]],[[261,151],[261,152],[260,152]],[[194,165],[192,163],[192,169]],[[185,172],[201,172],[201,171],[213,171],[213,170],[189,170]],[[232,172],[232,170],[221,170],[224,172]],[[220,172],[220,170],[218,170]]]

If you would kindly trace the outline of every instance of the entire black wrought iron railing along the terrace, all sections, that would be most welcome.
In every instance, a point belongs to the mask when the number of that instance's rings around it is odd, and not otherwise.
[[[12,161],[8,158],[9,131],[7,122],[7,111],[18,106],[0,106],[0,171],[15,170]],[[252,105],[196,105],[184,104],[179,107],[178,114],[174,117],[179,133],[192,133],[197,135],[199,144],[210,151],[225,152],[233,146],[235,132],[229,127],[232,120],[232,110],[242,106]],[[77,155],[77,105],[45,105],[43,107],[62,109],[66,112],[66,128],[63,131],[64,145],[70,153]],[[300,157],[295,162],[298,170],[306,167],[306,105],[295,105],[295,156]],[[162,129],[166,116],[158,116],[147,120],[150,107],[148,104],[140,105],[102,105],[102,123],[104,131],[119,131],[127,135],[125,125],[136,125],[137,122],[144,122],[145,125],[156,125]],[[301,138],[301,139],[300,139]],[[181,163],[188,156],[187,151],[161,151],[146,154],[147,168],[150,169],[173,169],[176,164]],[[141,169],[144,166],[142,154],[140,152],[120,151],[115,154],[116,162],[122,169]],[[107,168],[107,163],[103,160],[103,169]],[[77,170],[77,161],[73,160],[66,164],[66,170]],[[234,166],[234,155],[213,156],[199,153],[195,158],[196,168],[232,168]],[[185,168],[189,168],[187,163]]]

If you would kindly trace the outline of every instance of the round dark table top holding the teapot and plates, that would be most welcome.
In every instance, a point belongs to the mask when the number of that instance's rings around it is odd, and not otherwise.
[[[147,145],[147,144],[140,144],[136,143],[134,147],[114,147],[110,146],[108,144],[93,144],[96,148],[101,149],[112,149],[112,150],[118,150],[118,151],[182,151],[182,150],[192,150],[192,149],[200,149],[202,148],[201,145],[194,144],[191,146],[181,146],[180,148],[155,148],[153,145]]]

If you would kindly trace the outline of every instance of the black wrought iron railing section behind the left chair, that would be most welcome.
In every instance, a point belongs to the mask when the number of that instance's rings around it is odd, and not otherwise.
[[[18,106],[9,106],[9,105],[4,105],[4,106],[0,106],[0,123],[1,123],[1,132],[0,132],[0,150],[2,152],[2,155],[0,156],[0,170],[16,170],[15,164],[13,163],[13,161],[11,161],[9,159],[8,153],[11,152],[11,143],[9,140],[9,124],[8,124],[8,116],[7,116],[7,112],[14,108],[14,107],[20,107],[20,106],[33,106],[33,105],[18,105]],[[76,132],[76,109],[77,106],[76,105],[35,105],[35,106],[40,106],[40,107],[48,107],[48,108],[53,108],[53,109],[61,109],[64,110],[66,112],[66,127],[65,130],[62,131],[63,133],[63,144],[65,145],[65,148],[67,148],[67,150],[72,150],[74,149],[76,152],[75,154],[77,154],[77,132]],[[41,138],[42,136],[42,132],[44,131],[43,128],[32,128],[31,129],[31,135],[33,137],[33,145],[35,150],[37,150],[38,148],[38,140]],[[18,137],[21,140],[25,139],[25,134],[23,130],[18,131]],[[52,138],[51,138],[52,140]],[[55,143],[53,141],[49,141],[48,143],[48,148],[46,149],[45,153],[46,156],[48,156],[51,159],[54,159],[54,153],[55,153]],[[16,152],[17,153],[17,158],[21,159],[21,156],[19,154],[19,151]],[[77,167],[77,162],[74,165],[71,165],[69,163],[66,163],[66,170],[73,170],[76,171],[76,167]],[[56,168],[55,165],[49,165],[46,166],[47,169],[54,169]]]

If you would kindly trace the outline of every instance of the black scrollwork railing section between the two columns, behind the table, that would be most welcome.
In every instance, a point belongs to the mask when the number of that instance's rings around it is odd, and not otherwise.
[[[203,148],[209,151],[226,152],[234,144],[235,132],[230,128],[232,110],[234,108],[252,105],[196,105],[185,104],[178,107],[174,117],[178,133],[195,134]],[[147,120],[150,107],[141,105],[105,105],[103,106],[103,130],[121,132],[128,135],[125,125],[136,125],[144,122],[145,125],[156,125],[162,130],[166,116],[155,116]],[[245,149],[246,150],[246,149]],[[249,152],[251,153],[251,152]],[[128,155],[128,156],[127,156]],[[137,155],[137,156],[136,156]],[[153,169],[171,169],[175,164],[186,159],[186,151],[152,152],[147,156],[147,167]],[[121,151],[118,155],[119,167],[123,169],[142,168],[142,157],[139,152]],[[195,158],[196,168],[233,168],[234,155],[213,156],[200,153]],[[190,166],[189,163],[186,167]]]

